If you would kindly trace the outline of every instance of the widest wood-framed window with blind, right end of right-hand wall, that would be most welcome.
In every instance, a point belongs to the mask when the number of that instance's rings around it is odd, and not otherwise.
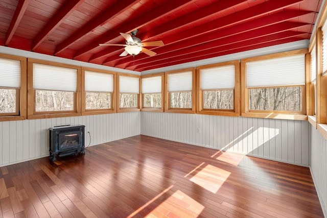
[[[242,60],[242,116],[307,119],[307,50]]]

